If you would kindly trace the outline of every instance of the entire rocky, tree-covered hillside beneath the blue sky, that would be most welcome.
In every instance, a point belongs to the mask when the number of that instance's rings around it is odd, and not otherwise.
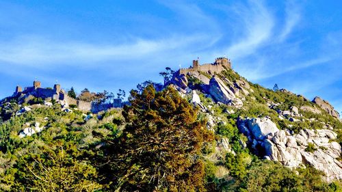
[[[1,100],[1,191],[341,191],[339,113],[231,66],[167,69],[123,108]]]

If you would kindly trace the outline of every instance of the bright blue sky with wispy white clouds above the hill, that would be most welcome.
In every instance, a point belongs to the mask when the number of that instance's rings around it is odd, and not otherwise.
[[[16,84],[131,90],[166,66],[227,56],[342,111],[342,1],[0,1],[0,98]]]

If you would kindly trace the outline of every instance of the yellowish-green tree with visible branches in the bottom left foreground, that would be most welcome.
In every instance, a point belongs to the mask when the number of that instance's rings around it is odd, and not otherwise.
[[[18,161],[14,191],[96,191],[97,172],[72,154],[75,146],[43,148],[42,154],[28,154]]]

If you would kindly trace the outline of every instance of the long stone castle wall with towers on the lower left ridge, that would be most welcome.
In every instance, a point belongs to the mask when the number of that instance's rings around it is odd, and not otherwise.
[[[114,99],[114,102],[98,103],[98,102],[86,102],[78,100],[68,96],[67,92],[61,89],[60,84],[53,85],[53,88],[42,88],[40,81],[34,81],[34,86],[23,88],[20,85],[16,86],[16,90],[12,97],[19,96],[35,96],[36,98],[42,98],[44,100],[60,101],[64,105],[76,105],[80,111],[92,111],[92,113],[98,113],[99,111],[105,111],[114,107],[123,107],[129,105],[129,102],[122,102],[121,99]]]

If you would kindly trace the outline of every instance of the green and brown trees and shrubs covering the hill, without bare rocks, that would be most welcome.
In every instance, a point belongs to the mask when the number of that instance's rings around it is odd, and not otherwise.
[[[232,82],[241,79],[227,70],[220,74]],[[190,79],[194,87],[198,79]],[[153,86],[154,85],[154,86]],[[172,87],[156,91],[143,83],[131,91],[131,106],[99,114],[77,109],[67,113],[60,105],[47,107],[38,98],[19,106],[3,102],[0,120],[0,191],[341,191],[340,182],[326,183],[309,165],[291,170],[261,160],[239,133],[241,117],[270,116],[279,128],[294,132],[319,128],[318,124],[280,120],[276,110],[313,107],[301,96],[267,90],[252,84],[244,107],[218,105],[200,94],[202,104],[220,118],[213,131],[207,115],[182,98]],[[160,86],[157,90],[160,90]],[[88,90],[83,97],[96,96]],[[281,103],[274,109],[267,102]],[[23,106],[31,107],[21,115]],[[339,133],[341,122],[326,115],[300,111],[303,118],[326,122]],[[23,128],[44,127],[20,138]],[[291,126],[289,126],[291,125]],[[231,151],[218,143],[228,139]],[[313,146],[308,146],[313,151]]]

